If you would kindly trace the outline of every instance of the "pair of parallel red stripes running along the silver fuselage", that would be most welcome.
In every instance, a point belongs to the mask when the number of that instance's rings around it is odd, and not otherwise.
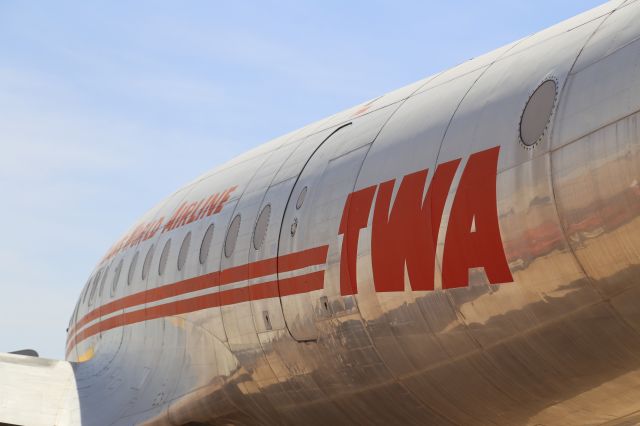
[[[308,266],[321,265],[326,263],[327,252],[329,246],[321,246],[297,253],[287,254],[281,257],[259,260],[257,262],[246,265],[235,266],[222,271],[216,271],[209,274],[189,278],[162,287],[141,291],[121,299],[114,300],[100,306],[93,311],[87,313],[78,321],[74,327],[69,330],[69,336],[73,336],[77,330],[84,327],[91,321],[108,315],[113,312],[126,308],[144,305],[179,296],[186,293],[192,293],[198,290],[213,288],[225,284],[232,284],[244,280],[274,275],[277,272],[290,272],[302,269]],[[82,340],[93,336],[102,331],[111,330],[127,324],[146,321],[164,316],[177,315],[180,313],[194,312],[201,309],[211,307],[231,305],[234,303],[245,302],[248,300],[266,299],[278,297],[279,295],[287,296],[292,294],[305,293],[312,290],[322,288],[324,283],[324,271],[314,272],[293,278],[280,280],[280,292],[278,291],[278,282],[269,281],[266,283],[250,285],[238,289],[225,290],[209,295],[198,296],[190,299],[179,300],[175,302],[158,305],[151,308],[140,309],[137,311],[127,312],[111,318],[100,321],[78,332],[68,342],[67,355],[71,348]],[[145,312],[149,312],[145,314]],[[158,315],[159,312],[163,314]]]

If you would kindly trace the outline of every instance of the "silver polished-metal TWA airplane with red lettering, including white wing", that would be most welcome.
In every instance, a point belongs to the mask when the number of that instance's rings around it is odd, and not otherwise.
[[[99,260],[13,425],[640,423],[640,1],[205,173]]]

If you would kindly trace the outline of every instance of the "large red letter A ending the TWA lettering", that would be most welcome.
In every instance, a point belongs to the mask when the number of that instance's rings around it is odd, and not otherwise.
[[[495,147],[472,154],[462,173],[445,238],[443,289],[467,286],[470,268],[484,268],[491,284],[513,281],[498,225],[499,152]]]

